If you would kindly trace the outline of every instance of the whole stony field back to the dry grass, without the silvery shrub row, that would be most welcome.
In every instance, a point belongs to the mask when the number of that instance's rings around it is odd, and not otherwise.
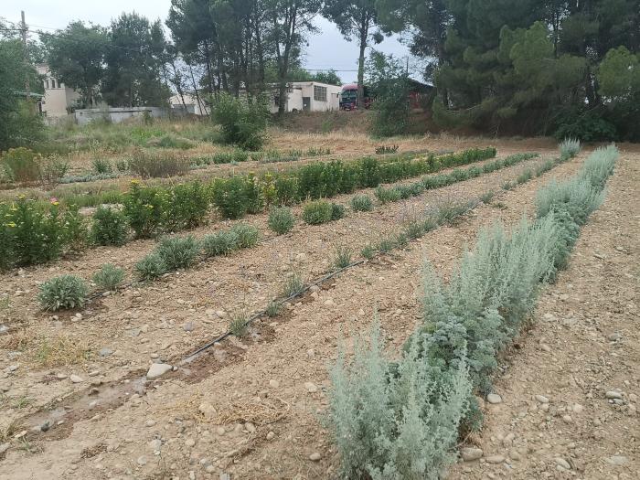
[[[197,179],[212,182],[214,191],[213,206],[189,217],[197,221],[188,226],[163,217],[150,235],[130,232],[121,246],[79,249],[69,241],[49,261],[37,255],[21,264],[5,261],[0,478],[338,477],[327,411],[328,368],[339,348],[350,357],[353,334],[368,332],[377,315],[385,351],[398,357],[421,324],[425,259],[448,279],[481,229],[497,220],[511,229],[523,216],[533,218],[536,192],[552,179],[576,175],[594,149],[559,159],[549,139],[442,134],[381,142],[357,128],[273,128],[266,153],[237,161],[235,150],[209,143],[201,125],[155,128],[162,132],[136,131],[144,144],[103,138],[129,134],[124,127],[60,133],[49,146],[61,149],[72,138],[91,145],[59,151],[59,160],[69,163],[63,178],[97,175],[97,159],[112,165],[112,176],[54,186],[5,182],[0,192],[7,205],[25,195],[61,210],[91,197],[78,213],[89,222],[113,196],[124,198],[126,209],[136,185],[165,195]],[[149,141],[167,135],[171,148]],[[176,146],[182,140],[189,148]],[[376,155],[383,144],[398,151]],[[488,147],[496,148],[495,157]],[[481,399],[483,429],[459,439],[462,453],[480,449],[481,460],[454,464],[450,478],[632,479],[640,471],[640,150],[618,147],[607,197],[583,227],[568,267],[542,287],[527,323],[498,355],[493,389],[500,401]],[[136,149],[154,158],[184,156],[189,166],[181,176],[132,184],[135,173],[115,165]],[[461,154],[470,149],[489,153]],[[194,163],[220,152],[232,154],[228,163]],[[519,155],[525,153],[539,155]],[[311,221],[306,195],[288,202],[294,224],[283,234],[270,228],[266,200],[254,213],[250,198],[240,215],[227,215],[237,219],[220,213],[227,204],[215,191],[225,191],[232,176],[248,176],[268,199],[265,175],[294,177],[302,188],[305,165],[339,160],[348,173],[353,165],[364,168],[367,156],[376,160],[382,187],[356,179],[345,188],[349,193],[340,187],[329,195],[332,182],[314,179],[325,189],[309,197],[344,207],[336,217]],[[393,182],[384,181],[389,176]],[[309,192],[316,191],[314,182]],[[354,208],[355,195],[367,195],[371,208]],[[166,216],[177,215],[162,205]],[[199,241],[238,225],[257,229],[259,237],[237,240],[222,253],[199,251],[175,267],[165,265],[157,278],[137,280],[139,262],[162,235]],[[187,250],[180,245],[173,254]],[[125,274],[115,291],[91,284],[85,304],[56,311],[38,302],[53,277],[72,274],[91,283],[105,263]],[[149,379],[154,365],[172,368]]]

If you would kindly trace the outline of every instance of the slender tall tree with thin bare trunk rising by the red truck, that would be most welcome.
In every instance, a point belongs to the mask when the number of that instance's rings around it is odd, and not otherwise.
[[[365,97],[365,53],[371,42],[378,44],[382,41],[379,30],[372,31],[378,16],[376,0],[325,0],[322,14],[336,24],[347,41],[357,41],[357,105],[362,106]]]

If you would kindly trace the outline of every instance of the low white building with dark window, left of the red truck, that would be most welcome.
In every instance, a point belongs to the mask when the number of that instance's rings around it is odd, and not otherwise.
[[[341,87],[319,81],[292,81],[284,101],[286,112],[326,112],[340,109]],[[279,92],[272,86],[270,110],[278,112]]]

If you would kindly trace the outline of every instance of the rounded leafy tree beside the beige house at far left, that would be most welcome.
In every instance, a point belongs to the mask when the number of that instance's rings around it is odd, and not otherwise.
[[[94,106],[109,48],[107,30],[72,22],[55,34],[41,33],[40,39],[51,72],[68,87],[79,91],[84,106]]]

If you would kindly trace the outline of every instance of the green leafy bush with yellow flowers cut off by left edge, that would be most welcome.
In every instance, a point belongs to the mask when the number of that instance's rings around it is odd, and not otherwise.
[[[0,203],[0,270],[58,259],[83,236],[78,208],[56,199],[38,205],[24,196]]]

